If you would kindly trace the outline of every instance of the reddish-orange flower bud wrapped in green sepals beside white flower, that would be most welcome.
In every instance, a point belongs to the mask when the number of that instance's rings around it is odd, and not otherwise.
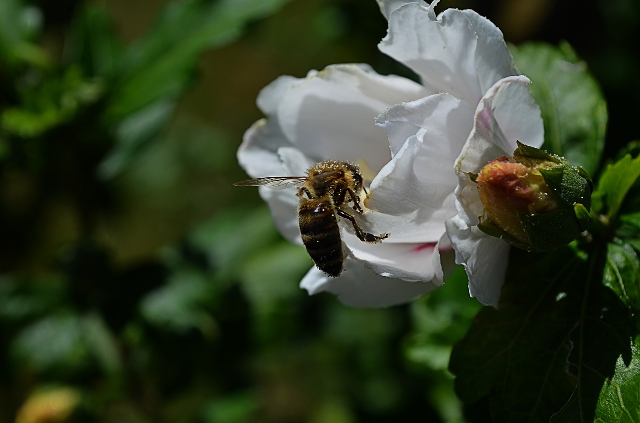
[[[478,228],[521,249],[554,250],[585,231],[593,183],[568,160],[518,141],[472,175],[484,213]]]

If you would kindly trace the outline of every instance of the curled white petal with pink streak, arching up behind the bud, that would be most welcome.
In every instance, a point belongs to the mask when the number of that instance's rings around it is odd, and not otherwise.
[[[477,105],[474,128],[456,161],[456,207],[470,226],[478,224],[483,204],[468,173],[478,173],[494,158],[513,155],[516,141],[535,147],[543,142],[540,108],[527,88],[529,82],[524,76],[501,79]]]

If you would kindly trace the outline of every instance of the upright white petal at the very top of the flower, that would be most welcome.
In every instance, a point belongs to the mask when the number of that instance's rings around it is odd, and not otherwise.
[[[518,73],[502,33],[489,20],[457,9],[435,19],[433,6],[396,8],[378,45],[418,73],[432,93],[445,91],[475,105],[495,81]]]

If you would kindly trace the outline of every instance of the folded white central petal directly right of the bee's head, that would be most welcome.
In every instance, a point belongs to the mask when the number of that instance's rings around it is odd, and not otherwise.
[[[355,215],[365,230],[390,233],[385,243],[438,242],[444,220],[456,214],[453,164],[472,118],[470,105],[447,94],[397,104],[378,117],[394,158],[371,183],[369,211]]]

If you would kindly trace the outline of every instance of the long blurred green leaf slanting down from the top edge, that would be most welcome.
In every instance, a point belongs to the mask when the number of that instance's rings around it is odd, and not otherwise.
[[[161,98],[177,98],[195,72],[198,55],[235,40],[244,25],[289,0],[182,0],[168,4],[150,31],[122,60],[110,101],[113,119]]]

